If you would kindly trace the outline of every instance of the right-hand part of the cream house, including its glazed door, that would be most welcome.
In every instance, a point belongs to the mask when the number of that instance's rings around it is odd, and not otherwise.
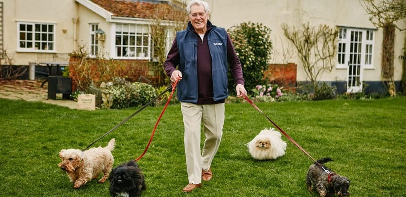
[[[271,63],[298,65],[297,81],[307,81],[307,76],[300,60],[294,54],[295,48],[283,35],[281,25],[299,28],[309,22],[310,26],[318,27],[326,24],[340,29],[337,44],[346,46],[339,53],[336,66],[331,72],[324,72],[320,81],[336,85],[338,91],[386,92],[381,77],[381,54],[383,30],[375,28],[369,15],[362,7],[360,0],[207,0],[210,4],[210,21],[226,29],[242,22],[259,22],[271,28],[273,37],[274,57]],[[406,24],[400,22],[400,27]],[[351,36],[357,35],[357,36]],[[399,91],[402,78],[402,61],[398,57],[402,53],[406,31],[396,30],[394,79]],[[357,44],[361,50],[350,48]],[[289,50],[289,51],[287,51]],[[360,54],[360,61],[350,62],[350,57]],[[338,56],[337,56],[338,57]],[[352,59],[352,58],[351,58]],[[356,72],[351,72],[356,70]],[[368,87],[363,87],[363,82]]]

